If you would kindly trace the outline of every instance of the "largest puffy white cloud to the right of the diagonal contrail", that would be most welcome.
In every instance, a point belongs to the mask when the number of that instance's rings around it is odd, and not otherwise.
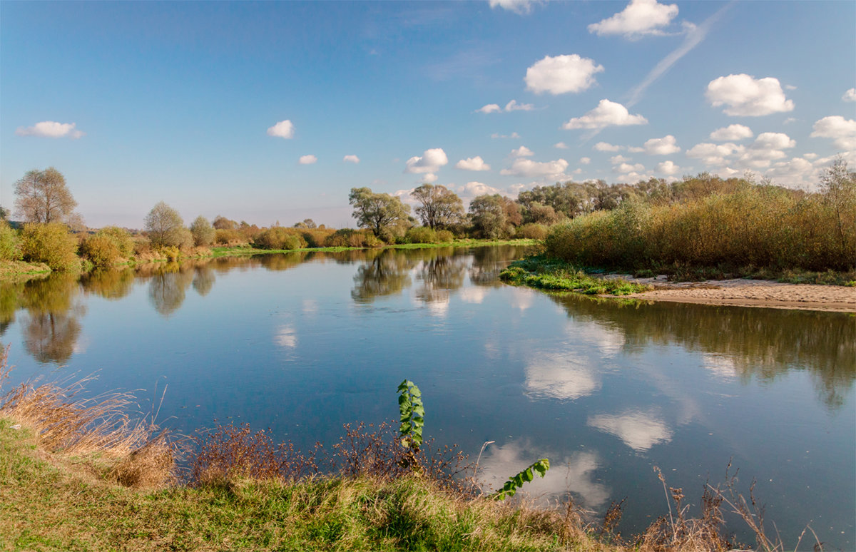
[[[711,80],[705,96],[714,107],[731,116],[763,116],[794,110],[794,102],[785,98],[778,79],[756,79],[748,74],[729,74]]]

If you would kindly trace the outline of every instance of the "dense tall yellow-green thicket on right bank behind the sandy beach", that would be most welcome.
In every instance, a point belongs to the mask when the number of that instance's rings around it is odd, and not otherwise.
[[[547,253],[575,264],[627,269],[690,265],[772,270],[856,266],[856,184],[819,193],[746,185],[672,205],[628,200],[552,229]]]

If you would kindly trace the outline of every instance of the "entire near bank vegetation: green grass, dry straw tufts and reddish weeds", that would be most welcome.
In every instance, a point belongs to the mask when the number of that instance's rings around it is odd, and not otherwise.
[[[8,375],[3,353],[0,382]],[[131,395],[80,398],[85,383],[24,383],[0,396],[4,548],[725,552],[739,546],[724,526],[730,508],[757,549],[785,550],[728,469],[724,487],[704,485],[698,518],[658,473],[668,516],[625,537],[621,502],[602,520],[570,497],[553,507],[499,502],[461,477],[478,464],[457,448],[421,434],[402,446],[391,424],[346,425],[332,455],[275,444],[247,425],[175,439],[155,415],[128,418]]]

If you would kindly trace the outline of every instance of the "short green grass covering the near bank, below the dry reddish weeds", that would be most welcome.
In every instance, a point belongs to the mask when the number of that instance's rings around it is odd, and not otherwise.
[[[568,531],[558,513],[450,495],[418,477],[126,489],[10,424],[0,420],[0,549],[616,550]]]

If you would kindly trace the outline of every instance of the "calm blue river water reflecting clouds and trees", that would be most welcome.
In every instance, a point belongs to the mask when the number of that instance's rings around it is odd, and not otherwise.
[[[3,284],[9,383],[97,371],[92,393],[143,389],[145,412],[166,387],[158,421],[179,433],[217,419],[309,446],[395,418],[408,378],[439,443],[474,458],[495,442],[485,484],[549,457],[530,493],[570,493],[596,513],[627,497],[619,530],[631,534],[668,513],[654,466],[698,504],[730,460],[737,490],[758,480],[791,549],[805,525],[826,549],[856,548],[853,315],[498,282],[524,253],[294,253]]]

